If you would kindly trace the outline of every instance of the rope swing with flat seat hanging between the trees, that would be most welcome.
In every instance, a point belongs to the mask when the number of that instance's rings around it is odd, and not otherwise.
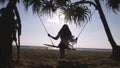
[[[93,15],[94,12],[95,12],[95,10],[92,12],[90,18],[92,17],[92,15]],[[40,17],[40,15],[39,15],[39,13],[37,13],[37,15],[38,15],[38,17],[39,17],[39,19],[40,19],[40,21],[41,21],[41,23],[42,23],[42,25],[43,25],[46,33],[49,34],[48,31],[47,31],[47,29],[46,29],[46,27],[45,27],[45,25],[44,25],[44,23],[43,23],[43,21],[42,21],[42,19],[41,19],[41,17]],[[90,19],[89,19],[89,20],[90,20]],[[88,21],[87,21],[87,22],[88,22]],[[79,34],[78,34],[78,36],[77,36],[76,38],[78,38],[78,37],[80,36],[80,34],[81,34],[82,31],[84,30],[85,26],[87,25],[87,22],[86,22],[86,24],[83,26],[82,30],[79,32]],[[50,39],[52,45],[51,45],[51,44],[44,44],[44,45],[50,46],[50,47],[59,48],[58,46],[55,46],[55,45],[54,45],[54,43],[53,43],[53,41],[52,41],[52,39],[51,39],[50,37],[49,37],[49,39]],[[69,42],[68,49],[75,50],[75,48],[73,47],[73,45],[75,45],[75,44],[77,43],[77,40],[76,40],[74,37],[72,37],[72,40],[68,40],[68,42]]]

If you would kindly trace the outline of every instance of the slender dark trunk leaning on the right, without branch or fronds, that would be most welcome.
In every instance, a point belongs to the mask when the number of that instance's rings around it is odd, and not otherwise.
[[[96,5],[97,5],[97,10],[99,12],[100,18],[102,20],[102,24],[103,24],[105,32],[107,34],[108,40],[109,40],[109,42],[110,42],[110,44],[112,46],[111,58],[120,60],[120,52],[119,52],[120,51],[120,47],[117,46],[116,42],[114,41],[114,39],[112,37],[111,31],[110,31],[109,26],[107,24],[107,20],[105,18],[105,15],[103,13],[103,10],[101,8],[99,0],[95,0],[95,2],[96,2]]]

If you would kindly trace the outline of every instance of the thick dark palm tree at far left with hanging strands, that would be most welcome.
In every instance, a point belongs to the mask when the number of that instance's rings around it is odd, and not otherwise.
[[[5,0],[8,1],[8,0]],[[5,2],[0,0],[1,3]],[[0,9],[0,68],[13,68],[12,65],[12,42],[15,41],[17,44],[17,31],[18,36],[21,35],[21,22],[19,12],[16,7],[16,3],[19,0],[10,0],[6,8]],[[16,19],[14,19],[16,15]],[[19,38],[19,37],[18,37]],[[18,39],[20,40],[20,38]],[[18,42],[20,44],[20,42]],[[19,45],[17,44],[18,50]],[[19,51],[18,51],[19,53]],[[19,61],[19,54],[17,61]]]

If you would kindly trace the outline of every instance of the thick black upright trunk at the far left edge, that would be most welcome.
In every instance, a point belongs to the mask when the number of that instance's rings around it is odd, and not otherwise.
[[[13,42],[13,9],[16,1],[10,0],[2,12],[0,19],[0,68],[13,68],[12,42]]]

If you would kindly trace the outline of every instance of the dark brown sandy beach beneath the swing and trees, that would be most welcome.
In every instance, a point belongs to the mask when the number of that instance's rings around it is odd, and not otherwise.
[[[16,58],[16,49],[14,59]],[[21,49],[20,63],[15,68],[120,68],[120,62],[110,59],[109,51],[66,50],[59,59],[58,50]]]

